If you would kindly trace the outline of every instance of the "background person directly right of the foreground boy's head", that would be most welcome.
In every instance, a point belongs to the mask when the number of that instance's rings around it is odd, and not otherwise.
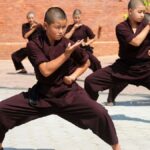
[[[67,27],[65,37],[74,42],[84,39],[81,47],[84,48],[89,55],[91,62],[90,69],[94,72],[101,68],[101,63],[93,55],[93,47],[90,46],[95,40],[95,34],[88,26],[82,23],[81,10],[75,9],[72,16],[74,23]]]

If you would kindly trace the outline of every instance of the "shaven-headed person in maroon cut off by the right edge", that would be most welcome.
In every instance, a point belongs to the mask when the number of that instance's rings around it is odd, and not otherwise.
[[[128,84],[150,89],[150,24],[144,13],[142,1],[129,1],[128,19],[116,26],[120,58],[87,77],[85,89],[91,98],[96,100],[98,91],[111,89],[108,99],[114,103]]]

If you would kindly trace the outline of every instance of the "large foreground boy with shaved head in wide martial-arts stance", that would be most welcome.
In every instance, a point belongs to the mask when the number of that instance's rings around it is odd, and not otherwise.
[[[28,43],[29,57],[37,84],[29,90],[0,102],[0,148],[5,133],[15,126],[56,114],[93,133],[120,150],[113,122],[107,110],[89,98],[75,80],[89,66],[88,55],[79,45],[64,37],[65,12],[59,7],[47,10],[42,35]],[[36,87],[36,88],[35,88]],[[30,99],[37,101],[31,105]]]

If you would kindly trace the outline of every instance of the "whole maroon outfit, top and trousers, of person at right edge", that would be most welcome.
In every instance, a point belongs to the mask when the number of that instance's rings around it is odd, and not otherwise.
[[[114,92],[112,95],[115,98],[128,84],[142,85],[150,89],[150,34],[138,47],[129,44],[146,25],[145,20],[139,23],[136,33],[133,33],[129,20],[116,26],[120,58],[114,64],[87,77],[85,89],[90,97],[96,100],[98,91],[113,88],[111,92]]]

